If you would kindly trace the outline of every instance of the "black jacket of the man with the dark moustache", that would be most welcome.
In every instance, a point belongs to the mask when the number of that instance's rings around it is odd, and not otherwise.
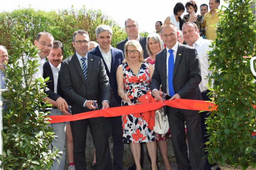
[[[49,81],[46,82],[47,88],[50,89],[45,91],[46,95],[54,101],[56,101],[61,95],[63,95],[61,86],[60,86],[60,76],[58,76],[58,84],[57,84],[57,93],[54,93],[54,79],[53,79],[53,71],[51,70],[51,66],[49,61],[43,64],[43,78],[49,77]]]

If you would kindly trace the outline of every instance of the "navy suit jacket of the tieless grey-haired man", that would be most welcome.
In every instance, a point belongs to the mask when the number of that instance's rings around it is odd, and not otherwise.
[[[102,54],[99,49],[99,45],[96,48],[93,48],[89,54],[96,55],[100,58],[102,58],[107,76],[109,77],[109,83],[111,86],[111,90],[114,93],[115,99],[117,100],[118,103],[121,103],[121,98],[118,96],[117,93],[117,67],[122,64],[122,60],[124,60],[124,54],[122,53],[121,50],[111,47],[111,54],[112,54],[112,59],[111,59],[111,68],[110,70],[107,68],[106,62],[104,61]]]

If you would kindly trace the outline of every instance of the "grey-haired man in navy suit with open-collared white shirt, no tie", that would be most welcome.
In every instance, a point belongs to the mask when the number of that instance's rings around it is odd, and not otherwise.
[[[117,94],[116,71],[124,60],[123,52],[117,48],[111,47],[112,29],[107,25],[100,25],[95,30],[96,39],[99,45],[89,53],[99,56],[109,77],[111,86],[110,107],[121,106],[121,98]],[[113,137],[113,155],[114,170],[123,170],[122,159],[124,155],[124,144],[122,143],[122,119],[121,116],[108,118],[111,124]],[[109,152],[108,169],[112,169],[111,157]],[[111,166],[111,167],[110,167]]]

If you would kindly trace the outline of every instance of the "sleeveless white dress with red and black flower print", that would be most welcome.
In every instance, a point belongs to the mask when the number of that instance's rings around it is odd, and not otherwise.
[[[132,105],[138,102],[138,97],[145,95],[149,90],[150,77],[149,65],[141,64],[138,75],[135,75],[127,63],[122,64],[124,75],[124,91],[131,93],[129,99]],[[122,100],[122,106],[131,105]],[[149,129],[147,122],[143,119],[143,113],[122,116],[123,143],[141,143],[155,140],[153,129]]]

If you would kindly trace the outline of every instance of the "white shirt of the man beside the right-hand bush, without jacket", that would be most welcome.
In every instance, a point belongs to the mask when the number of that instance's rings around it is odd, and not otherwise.
[[[209,78],[206,78],[208,73],[210,73],[210,71],[208,70],[210,63],[208,61],[209,57],[207,52],[212,51],[212,48],[209,47],[211,42],[211,40],[203,39],[202,37],[200,37],[198,40],[196,40],[196,42],[193,43],[193,47],[198,52],[201,67],[202,81],[199,84],[201,93],[207,90],[207,83],[209,81]]]

